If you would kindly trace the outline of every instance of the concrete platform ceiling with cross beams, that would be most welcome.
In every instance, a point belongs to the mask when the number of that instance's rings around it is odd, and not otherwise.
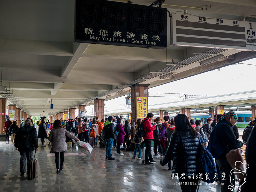
[[[150,5],[154,1],[132,2]],[[252,16],[255,0],[166,0],[163,7],[170,13],[186,9],[189,14],[204,17],[241,20],[250,16],[248,19],[252,22],[256,17]],[[170,63],[174,59],[177,63],[195,56],[191,54],[193,51],[209,49],[170,46],[170,35],[168,47],[163,50],[75,43],[74,1],[71,0],[1,1],[0,13],[2,85],[30,115],[48,115],[48,112],[60,112],[79,104],[90,105],[95,98],[108,100],[122,96],[129,86],[121,84],[131,84],[134,78],[147,76],[149,71],[166,68],[166,60]],[[167,18],[167,24],[169,21]],[[234,59],[206,66],[197,61],[172,71],[177,73],[175,77],[160,80],[163,74],[159,74],[141,83],[153,87],[256,57],[255,52],[249,51],[220,50],[219,53],[233,55]],[[116,87],[124,92],[111,91]],[[51,98],[53,110],[49,110]]]

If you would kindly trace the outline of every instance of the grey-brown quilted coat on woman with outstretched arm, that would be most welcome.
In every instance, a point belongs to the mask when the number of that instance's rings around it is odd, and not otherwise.
[[[71,139],[78,140],[76,136],[67,131],[67,129],[52,129],[49,135],[48,140],[52,142],[50,153],[68,151],[66,136]]]

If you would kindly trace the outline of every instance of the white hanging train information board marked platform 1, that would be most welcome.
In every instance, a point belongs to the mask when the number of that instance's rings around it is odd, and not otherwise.
[[[256,23],[172,15],[172,45],[256,51]]]

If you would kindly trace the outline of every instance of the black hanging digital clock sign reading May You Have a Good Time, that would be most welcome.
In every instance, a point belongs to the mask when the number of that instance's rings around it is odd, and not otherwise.
[[[104,0],[76,0],[75,42],[167,47],[166,8]]]

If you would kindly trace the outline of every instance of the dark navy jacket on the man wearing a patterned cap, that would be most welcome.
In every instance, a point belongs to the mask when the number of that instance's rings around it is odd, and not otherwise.
[[[237,149],[243,146],[243,142],[236,139],[236,136],[233,132],[233,125],[228,122],[226,119],[219,120],[218,124],[225,123],[219,125],[216,130],[216,134],[218,137],[218,142],[220,145],[224,146],[224,152],[216,159],[226,159],[226,155],[232,149]],[[218,125],[217,124],[217,125]]]

